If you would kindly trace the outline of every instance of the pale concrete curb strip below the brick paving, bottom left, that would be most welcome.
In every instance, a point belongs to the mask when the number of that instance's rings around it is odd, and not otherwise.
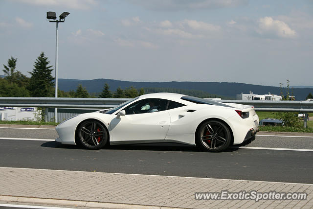
[[[89,202],[89,201],[79,201],[79,200],[45,199],[45,198],[36,198],[36,197],[18,197],[18,196],[5,196],[5,195],[0,195],[0,201],[35,203],[35,204],[51,204],[51,205],[75,206],[75,207],[90,207],[90,208],[108,208],[108,209],[134,209],[134,208],[136,209],[178,209],[178,208],[159,207],[159,206]]]

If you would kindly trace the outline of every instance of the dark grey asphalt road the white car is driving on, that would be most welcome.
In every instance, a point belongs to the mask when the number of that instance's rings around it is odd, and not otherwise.
[[[54,139],[54,130],[0,129],[0,138]],[[312,149],[313,138],[261,137],[249,146]],[[55,141],[0,139],[0,166],[313,184],[313,152],[166,145],[85,150]]]

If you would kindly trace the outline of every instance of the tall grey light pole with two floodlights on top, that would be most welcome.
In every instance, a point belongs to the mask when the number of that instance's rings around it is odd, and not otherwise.
[[[59,30],[59,23],[64,23],[65,18],[69,15],[69,12],[63,12],[59,16],[59,20],[55,15],[55,12],[47,12],[47,20],[50,23],[57,23],[56,24],[56,33],[55,33],[55,98],[58,98],[58,30]],[[58,108],[54,108],[54,121],[58,122]]]

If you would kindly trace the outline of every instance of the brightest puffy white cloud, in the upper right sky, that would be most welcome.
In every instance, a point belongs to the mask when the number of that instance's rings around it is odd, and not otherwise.
[[[288,24],[279,20],[273,20],[271,17],[259,19],[257,32],[261,35],[274,35],[282,38],[293,38],[296,36],[296,32],[292,30]]]

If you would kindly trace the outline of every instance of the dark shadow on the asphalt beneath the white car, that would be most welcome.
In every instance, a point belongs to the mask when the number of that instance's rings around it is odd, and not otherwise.
[[[78,149],[85,148],[78,145],[62,144],[56,141],[45,142],[42,147],[60,148],[60,149]],[[222,152],[233,152],[238,147],[230,146]],[[142,150],[142,151],[177,151],[177,152],[205,152],[196,146],[179,144],[179,143],[151,143],[151,144],[128,144],[128,145],[109,145],[103,150]]]

